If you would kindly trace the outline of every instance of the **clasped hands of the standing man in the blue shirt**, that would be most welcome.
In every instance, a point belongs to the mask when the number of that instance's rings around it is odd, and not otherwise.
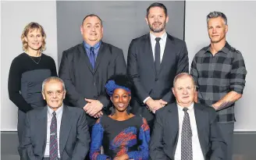
[[[87,98],[85,101],[87,101],[87,105],[84,106],[84,111],[90,116],[96,116],[103,108],[101,101]]]

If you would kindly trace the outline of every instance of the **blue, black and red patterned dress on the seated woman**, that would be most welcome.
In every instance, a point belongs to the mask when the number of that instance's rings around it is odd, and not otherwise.
[[[92,129],[90,158],[105,160],[127,154],[129,159],[148,160],[149,140],[149,126],[141,116],[124,121],[102,116]],[[101,146],[104,154],[101,154]]]

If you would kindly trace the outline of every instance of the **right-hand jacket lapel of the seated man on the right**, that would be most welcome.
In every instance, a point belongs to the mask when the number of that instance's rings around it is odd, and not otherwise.
[[[199,142],[201,144],[201,149],[203,151],[203,153],[205,153],[205,148],[207,146],[204,146],[204,132],[203,132],[203,128],[205,126],[205,114],[203,112],[204,108],[201,108],[201,105],[198,105],[197,103],[194,103],[194,116],[197,122],[197,134],[198,134],[198,139]]]

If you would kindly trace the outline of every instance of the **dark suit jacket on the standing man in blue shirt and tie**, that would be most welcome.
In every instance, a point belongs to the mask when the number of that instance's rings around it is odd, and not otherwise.
[[[118,73],[126,73],[123,51],[104,42],[99,48],[94,69],[83,44],[64,51],[59,66],[59,77],[66,85],[66,100],[69,105],[80,108],[87,104],[84,98],[98,99],[108,108],[110,100],[105,84],[110,76]],[[92,126],[96,119],[87,115],[87,121]]]

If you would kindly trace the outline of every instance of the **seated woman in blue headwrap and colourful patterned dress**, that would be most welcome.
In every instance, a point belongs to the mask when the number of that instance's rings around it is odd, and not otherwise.
[[[105,85],[113,104],[112,114],[102,116],[93,126],[91,160],[148,160],[150,130],[146,119],[130,113],[132,87],[126,75],[114,75]]]

